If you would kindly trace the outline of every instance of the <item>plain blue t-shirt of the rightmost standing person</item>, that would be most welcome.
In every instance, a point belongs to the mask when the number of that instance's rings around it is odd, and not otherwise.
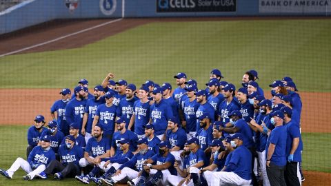
[[[297,147],[297,150],[293,154],[293,161],[301,162],[301,151],[303,150],[303,143],[301,139],[299,125],[297,123],[294,123],[293,121],[290,121],[289,123],[285,124],[285,127],[286,130],[288,131],[288,137],[286,140],[286,157],[290,155],[293,144],[293,138],[299,138],[299,145]]]

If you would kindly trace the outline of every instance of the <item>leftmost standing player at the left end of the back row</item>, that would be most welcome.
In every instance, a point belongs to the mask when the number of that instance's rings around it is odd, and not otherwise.
[[[62,98],[58,101],[55,101],[50,107],[50,115],[52,116],[53,120],[57,119],[57,123],[59,126],[57,126],[57,129],[63,134],[68,135],[69,134],[69,124],[66,121],[66,117],[64,116],[64,113],[66,112],[66,105],[68,101],[70,101],[70,95],[71,91],[68,88],[63,88],[63,90],[60,92]],[[57,116],[55,116],[55,112],[57,112]]]

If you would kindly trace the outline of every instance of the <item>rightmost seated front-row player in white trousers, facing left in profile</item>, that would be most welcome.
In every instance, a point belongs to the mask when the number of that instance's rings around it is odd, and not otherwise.
[[[212,185],[250,185],[252,181],[252,154],[243,145],[243,136],[236,133],[231,138],[231,146],[234,151],[231,153],[229,164],[222,172],[212,174]]]

